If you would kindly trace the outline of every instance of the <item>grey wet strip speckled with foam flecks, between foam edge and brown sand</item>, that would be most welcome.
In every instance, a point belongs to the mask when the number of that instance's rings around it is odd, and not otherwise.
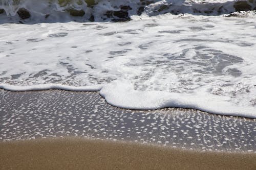
[[[1,141],[78,136],[256,153],[255,119],[180,108],[120,109],[98,92],[0,90],[0,96]]]

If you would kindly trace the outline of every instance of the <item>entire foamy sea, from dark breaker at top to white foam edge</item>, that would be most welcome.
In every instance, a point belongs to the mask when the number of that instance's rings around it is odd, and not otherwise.
[[[256,118],[255,7],[0,0],[0,88],[100,91],[121,108]]]

